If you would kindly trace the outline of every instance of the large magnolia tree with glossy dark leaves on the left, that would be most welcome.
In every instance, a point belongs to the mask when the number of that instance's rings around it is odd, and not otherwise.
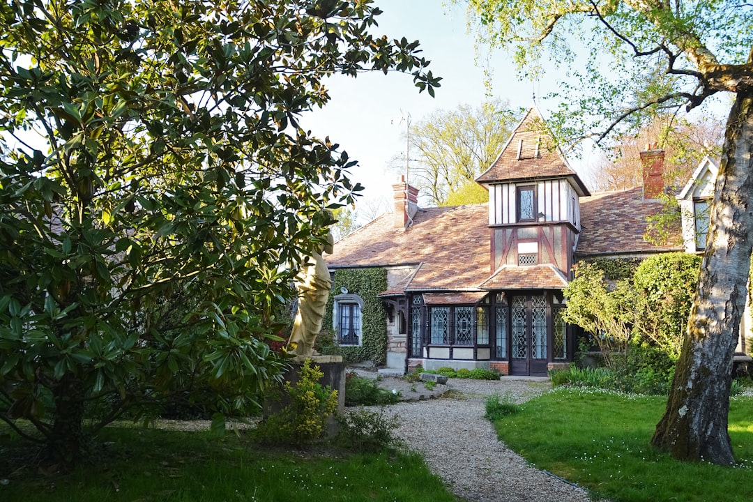
[[[75,461],[127,409],[258,406],[322,209],[360,188],[300,114],[328,102],[335,73],[438,85],[418,42],[370,34],[378,14],[361,0],[0,4],[0,419]]]

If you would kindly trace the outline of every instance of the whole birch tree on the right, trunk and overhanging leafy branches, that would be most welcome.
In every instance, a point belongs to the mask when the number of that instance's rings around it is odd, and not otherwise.
[[[529,75],[544,71],[549,54],[550,66],[567,65],[580,78],[562,85],[560,117],[572,122],[559,121],[559,134],[620,134],[639,125],[641,114],[734,96],[698,291],[651,440],[675,458],[718,464],[734,463],[727,434],[732,357],[753,247],[751,10],[732,0],[470,0],[468,9],[483,40],[511,47]],[[575,65],[573,47],[581,46],[590,56]]]

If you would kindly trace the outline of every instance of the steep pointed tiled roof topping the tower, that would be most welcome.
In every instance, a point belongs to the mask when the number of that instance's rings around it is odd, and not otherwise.
[[[556,146],[538,108],[532,106],[514,129],[497,160],[476,181],[486,184],[547,178],[570,178],[578,195],[590,195]]]

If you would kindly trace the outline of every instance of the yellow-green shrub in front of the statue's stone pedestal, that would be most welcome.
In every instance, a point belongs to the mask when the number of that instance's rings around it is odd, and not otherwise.
[[[295,384],[285,382],[281,402],[289,401],[279,412],[258,425],[256,435],[267,443],[298,444],[321,440],[328,418],[337,410],[337,391],[319,384],[324,373],[306,359]]]

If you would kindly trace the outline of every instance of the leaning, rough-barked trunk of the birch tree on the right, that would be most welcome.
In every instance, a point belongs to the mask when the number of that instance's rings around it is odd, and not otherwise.
[[[666,412],[651,443],[688,461],[734,464],[727,413],[753,233],[753,94],[727,120],[708,245]]]

